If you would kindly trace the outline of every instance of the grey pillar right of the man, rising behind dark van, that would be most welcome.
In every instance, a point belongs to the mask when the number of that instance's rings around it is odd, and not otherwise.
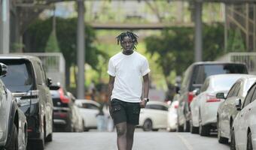
[[[195,53],[194,53],[194,60],[195,62],[202,61],[202,46],[203,46],[203,39],[202,39],[202,2],[195,2]]]

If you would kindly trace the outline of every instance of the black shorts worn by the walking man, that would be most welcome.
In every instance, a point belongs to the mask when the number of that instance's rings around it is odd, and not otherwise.
[[[141,111],[139,103],[130,103],[114,98],[111,101],[111,108],[111,117],[114,124],[121,122],[133,125],[139,124],[139,113]]]

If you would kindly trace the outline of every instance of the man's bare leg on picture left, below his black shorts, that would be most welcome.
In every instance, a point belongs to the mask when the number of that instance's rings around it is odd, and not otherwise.
[[[126,133],[127,125],[126,122],[116,124],[117,128],[117,148],[118,150],[126,150]]]

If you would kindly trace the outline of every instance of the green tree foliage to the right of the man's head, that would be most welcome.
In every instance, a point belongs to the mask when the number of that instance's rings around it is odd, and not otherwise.
[[[194,62],[194,28],[168,28],[159,37],[147,37],[145,43],[151,55],[159,56],[157,64],[162,68],[165,77],[169,77],[171,71],[182,75]],[[204,26],[203,61],[215,60],[223,52],[224,27],[219,23]]]

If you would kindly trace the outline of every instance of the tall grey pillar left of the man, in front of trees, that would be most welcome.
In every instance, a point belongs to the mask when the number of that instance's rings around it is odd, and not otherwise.
[[[77,35],[77,58],[78,58],[78,85],[77,98],[84,99],[84,0],[78,0],[78,35]]]

